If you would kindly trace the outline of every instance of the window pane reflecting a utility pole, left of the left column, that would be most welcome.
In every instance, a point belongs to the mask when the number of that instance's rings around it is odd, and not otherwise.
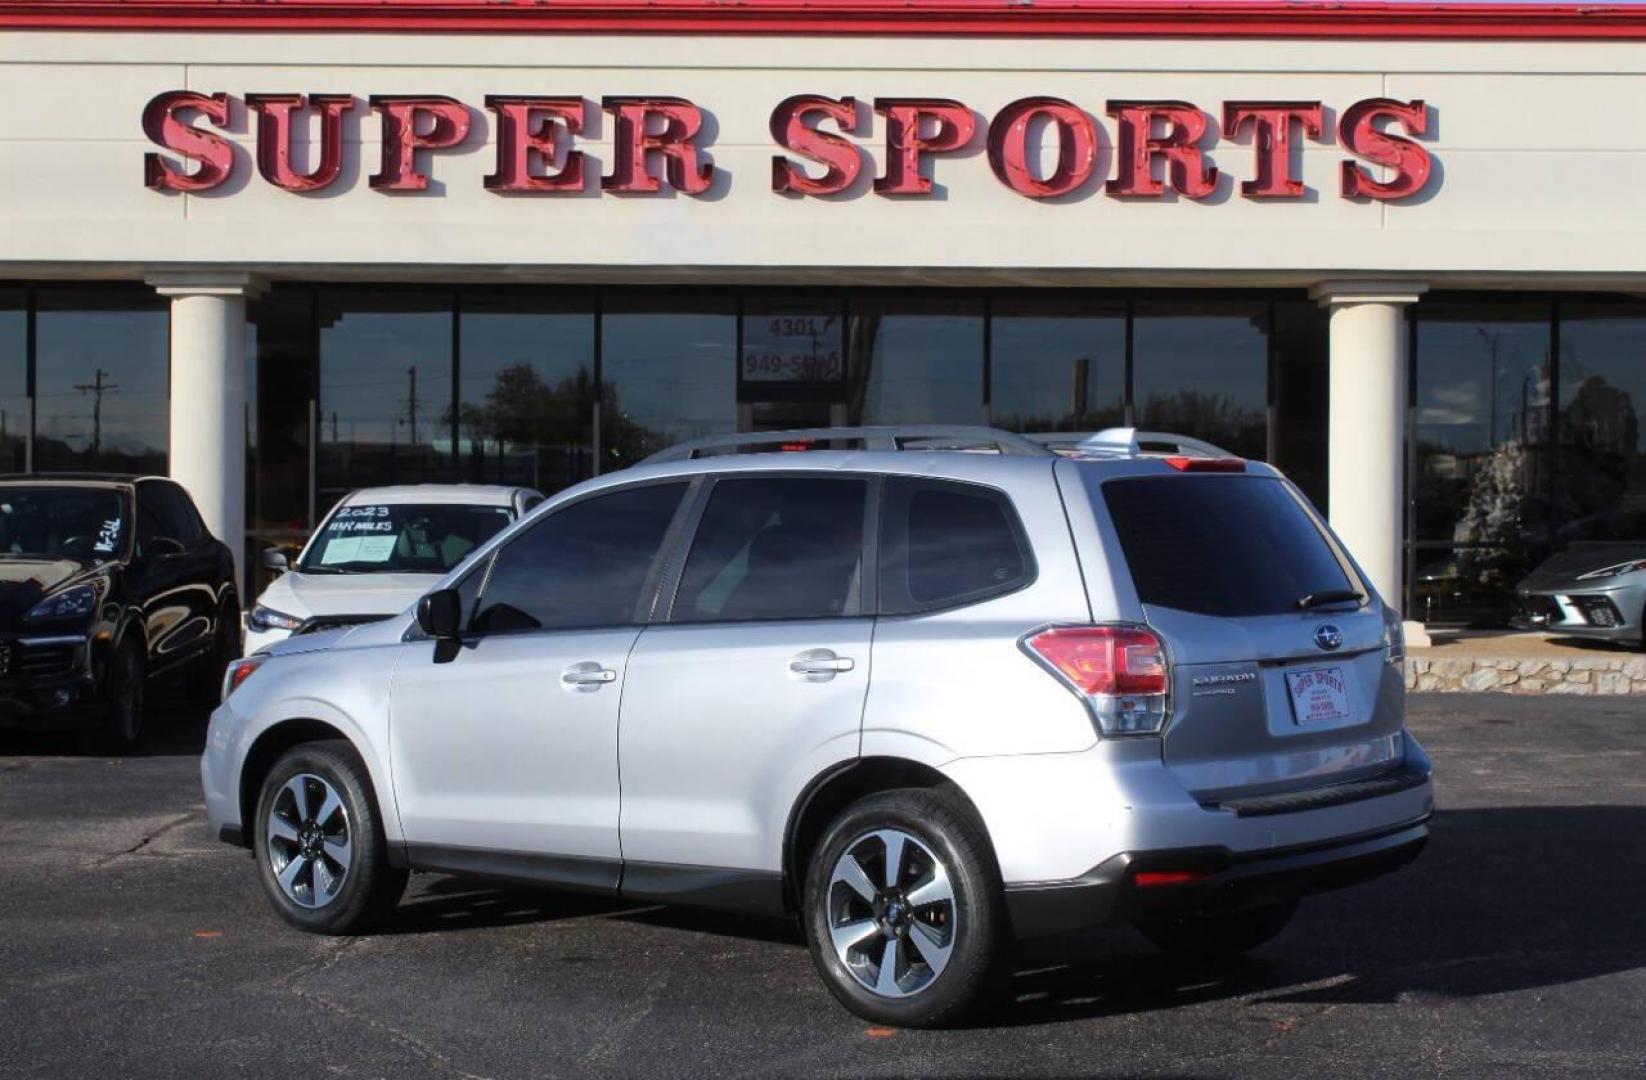
[[[165,472],[170,313],[145,290],[43,288],[35,468]]]

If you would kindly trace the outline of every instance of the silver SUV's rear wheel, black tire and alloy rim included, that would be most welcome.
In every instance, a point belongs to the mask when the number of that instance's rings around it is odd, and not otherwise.
[[[950,1026],[1002,986],[999,869],[951,792],[899,789],[846,807],[811,856],[803,917],[823,983],[866,1021]]]

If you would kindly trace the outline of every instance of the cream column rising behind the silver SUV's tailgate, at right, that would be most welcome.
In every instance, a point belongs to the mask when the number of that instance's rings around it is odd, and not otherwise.
[[[1393,608],[1406,603],[1406,305],[1425,290],[1416,282],[1322,282],[1310,290],[1332,311],[1332,528]],[[1420,627],[1411,629],[1420,635]]]

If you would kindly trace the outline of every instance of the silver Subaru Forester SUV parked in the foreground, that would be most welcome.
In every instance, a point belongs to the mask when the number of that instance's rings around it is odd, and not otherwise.
[[[849,1009],[945,1024],[1014,937],[1233,953],[1412,859],[1401,654],[1264,464],[734,436],[560,494],[415,614],[239,662],[202,777],[309,930],[408,871],[797,912]]]

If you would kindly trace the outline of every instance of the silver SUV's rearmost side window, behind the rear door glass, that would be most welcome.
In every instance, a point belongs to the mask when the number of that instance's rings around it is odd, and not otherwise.
[[[887,477],[881,510],[881,611],[912,614],[1011,593],[1034,578],[1004,494],[979,484]]]

